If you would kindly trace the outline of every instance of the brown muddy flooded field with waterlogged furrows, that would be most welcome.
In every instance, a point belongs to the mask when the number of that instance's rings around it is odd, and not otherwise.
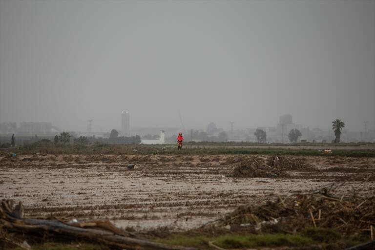
[[[332,182],[375,194],[375,158],[293,157],[307,167],[274,178],[232,178],[262,155],[21,155],[0,157],[0,197],[21,201],[29,217],[110,219],[135,230],[192,229],[239,205]],[[128,169],[134,164],[134,169]]]

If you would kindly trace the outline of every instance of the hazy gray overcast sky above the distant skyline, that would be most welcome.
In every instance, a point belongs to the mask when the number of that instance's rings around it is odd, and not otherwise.
[[[0,0],[0,122],[375,127],[374,0]]]

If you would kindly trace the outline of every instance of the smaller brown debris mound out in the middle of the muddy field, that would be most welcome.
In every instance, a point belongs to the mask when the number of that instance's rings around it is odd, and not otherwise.
[[[243,159],[229,173],[234,178],[275,178],[288,176],[286,171],[310,167],[300,159],[284,156],[271,156],[267,160],[260,157]]]

